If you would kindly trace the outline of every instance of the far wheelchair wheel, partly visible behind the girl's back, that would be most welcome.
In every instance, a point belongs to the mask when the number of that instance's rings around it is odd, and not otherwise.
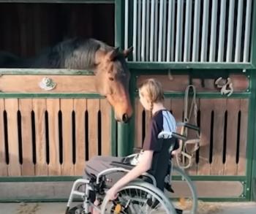
[[[174,194],[175,198],[180,198],[180,199],[185,199],[186,202],[189,202],[189,205],[185,206],[187,208],[184,209],[184,207],[182,205],[178,205],[179,203],[177,203],[177,205],[175,204],[176,208],[184,210],[184,214],[189,213],[189,214],[196,214],[197,213],[197,205],[198,205],[198,199],[197,199],[197,191],[195,189],[194,184],[192,183],[192,180],[190,179],[189,175],[187,175],[186,172],[184,172],[183,169],[173,166],[173,172],[172,174],[174,175],[180,175],[181,176],[181,183],[180,186],[182,186],[183,188],[185,186],[187,186],[187,196],[180,196],[180,195],[176,195],[176,193]],[[172,176],[172,175],[170,175]],[[174,192],[176,192],[176,189],[174,189]]]

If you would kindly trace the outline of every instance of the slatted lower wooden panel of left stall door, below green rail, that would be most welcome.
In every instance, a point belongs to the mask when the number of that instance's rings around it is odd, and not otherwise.
[[[0,99],[0,175],[83,175],[110,127],[105,99]]]

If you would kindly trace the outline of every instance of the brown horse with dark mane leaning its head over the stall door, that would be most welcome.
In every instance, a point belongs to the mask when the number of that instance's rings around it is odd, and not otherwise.
[[[96,75],[96,88],[115,111],[117,121],[132,116],[129,99],[129,69],[125,58],[132,51],[120,52],[96,39],[69,39],[49,47],[35,58],[23,59],[0,53],[1,68],[89,69]]]

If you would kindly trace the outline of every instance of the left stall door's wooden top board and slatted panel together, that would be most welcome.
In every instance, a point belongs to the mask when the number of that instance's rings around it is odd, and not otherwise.
[[[47,75],[56,83],[48,92],[43,77],[0,77],[0,176],[83,175],[89,158],[111,154],[111,108],[95,77]]]

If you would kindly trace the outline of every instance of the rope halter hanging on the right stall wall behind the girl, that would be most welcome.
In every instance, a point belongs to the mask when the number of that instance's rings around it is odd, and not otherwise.
[[[192,89],[192,102],[189,107],[188,111],[188,106],[189,106],[189,90]],[[197,102],[195,99],[196,96],[196,91],[195,91],[195,86],[194,85],[188,85],[185,94],[184,94],[184,123],[189,123],[192,117],[192,113],[194,115],[194,124],[197,126]],[[181,134],[187,137],[187,127],[182,126],[181,128]],[[187,169],[192,166],[192,158],[194,156],[195,151],[199,148],[199,143],[200,143],[200,133],[197,131],[197,137],[195,139],[189,139],[186,140],[185,142],[180,143],[181,145],[181,152],[177,154],[176,156],[176,161],[178,164],[178,167],[181,167],[183,169]],[[192,150],[189,150],[187,148],[187,145],[192,145],[194,144],[194,147]],[[188,164],[186,164],[186,158],[188,159]]]

